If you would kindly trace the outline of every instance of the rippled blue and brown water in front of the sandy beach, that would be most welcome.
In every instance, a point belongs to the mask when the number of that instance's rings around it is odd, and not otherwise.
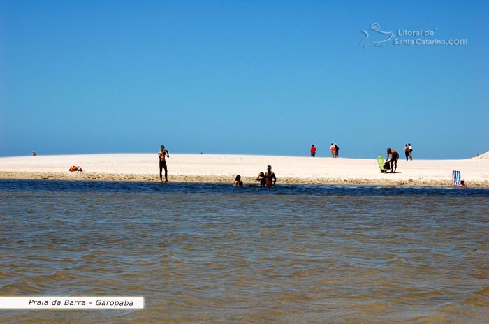
[[[1,323],[488,323],[489,190],[0,180]]]

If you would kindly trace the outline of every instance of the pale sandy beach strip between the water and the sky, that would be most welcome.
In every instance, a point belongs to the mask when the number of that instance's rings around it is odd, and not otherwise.
[[[487,155],[487,154],[486,154]],[[171,154],[170,182],[256,183],[258,172],[272,165],[277,184],[371,184],[386,186],[450,186],[452,170],[460,170],[468,186],[489,187],[487,156],[461,160],[400,159],[397,173],[383,174],[375,159],[323,157]],[[69,172],[78,165],[83,172]],[[156,154],[83,154],[0,158],[2,179],[66,179],[159,181]]]

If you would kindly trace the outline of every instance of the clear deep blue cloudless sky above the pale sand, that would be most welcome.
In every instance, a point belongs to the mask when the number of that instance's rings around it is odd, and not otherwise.
[[[3,0],[0,156],[474,156],[488,17],[489,1]],[[364,47],[372,23],[467,44]],[[419,29],[435,34],[397,35]]]

